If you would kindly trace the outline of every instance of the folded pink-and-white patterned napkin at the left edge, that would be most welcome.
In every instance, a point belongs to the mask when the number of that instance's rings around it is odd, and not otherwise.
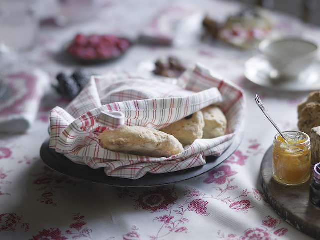
[[[14,69],[0,78],[0,133],[24,132],[35,120],[49,76],[39,69]]]

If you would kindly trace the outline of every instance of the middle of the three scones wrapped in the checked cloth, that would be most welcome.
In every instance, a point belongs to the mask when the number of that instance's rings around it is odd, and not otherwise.
[[[202,138],[203,127],[203,113],[197,111],[159,130],[173,135],[185,146],[192,144],[197,138]]]

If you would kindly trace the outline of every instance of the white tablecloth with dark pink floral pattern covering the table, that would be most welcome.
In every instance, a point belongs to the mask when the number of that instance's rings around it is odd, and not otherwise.
[[[49,136],[49,111],[68,104],[52,88],[27,131],[0,134],[0,239],[311,239],[280,218],[266,200],[260,164],[276,130],[254,101],[259,94],[280,129],[297,129],[297,105],[308,92],[278,93],[248,81],[244,63],[256,50],[206,40],[187,47],[137,44],[120,59],[97,65],[79,65],[59,55],[78,32],[136,39],[169,2],[98,1],[98,12],[89,21],[64,27],[43,24],[26,64],[46,71],[55,84],[57,73],[78,67],[96,74],[145,73],[145,63],[169,55],[202,63],[245,92],[245,129],[237,150],[209,172],[171,185],[121,188],[70,178],[49,169],[40,158],[40,147]],[[231,1],[189,2],[220,20],[241,7]],[[320,44],[319,27],[279,13],[276,17],[281,17],[279,29]]]

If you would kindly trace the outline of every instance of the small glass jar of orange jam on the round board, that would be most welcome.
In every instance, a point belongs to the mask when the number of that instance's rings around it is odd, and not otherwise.
[[[285,185],[299,185],[310,178],[310,137],[300,131],[283,132],[288,143],[278,133],[272,149],[272,176]]]

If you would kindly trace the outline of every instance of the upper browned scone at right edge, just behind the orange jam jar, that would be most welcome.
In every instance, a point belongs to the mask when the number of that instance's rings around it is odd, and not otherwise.
[[[320,103],[307,103],[301,110],[298,127],[300,131],[310,134],[312,127],[320,126]]]

